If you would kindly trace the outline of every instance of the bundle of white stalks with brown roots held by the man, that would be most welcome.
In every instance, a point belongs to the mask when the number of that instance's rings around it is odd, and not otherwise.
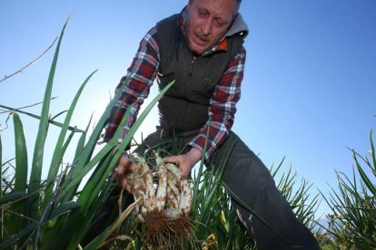
[[[138,168],[127,176],[138,201],[135,214],[145,225],[146,244],[172,248],[192,239],[192,190],[180,169],[156,156],[156,168],[135,157]]]

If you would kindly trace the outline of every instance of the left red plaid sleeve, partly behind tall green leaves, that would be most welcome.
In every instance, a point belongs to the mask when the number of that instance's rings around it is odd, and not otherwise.
[[[137,118],[141,104],[143,104],[144,99],[149,95],[150,87],[153,85],[159,66],[159,47],[155,42],[155,34],[156,28],[153,27],[143,37],[134,60],[128,68],[127,76],[124,76],[116,87],[116,91],[122,91],[122,93],[115,102],[114,108],[107,120],[104,141],[108,141],[114,137],[114,132],[119,126],[125,111],[127,111],[131,104],[134,104],[122,132],[121,139],[124,139],[126,132],[132,127],[134,120]],[[127,79],[129,81],[121,89],[123,82]]]

